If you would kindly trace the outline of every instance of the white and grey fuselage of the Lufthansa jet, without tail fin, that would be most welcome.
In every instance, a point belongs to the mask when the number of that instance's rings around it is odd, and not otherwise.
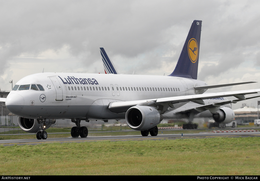
[[[16,85],[25,90],[12,90],[5,103],[11,113],[21,117],[120,119],[125,113],[111,112],[110,102],[194,95],[194,86],[206,84],[172,76],[38,73]],[[32,85],[41,85],[44,90],[35,90]],[[174,104],[174,109],[186,103]]]

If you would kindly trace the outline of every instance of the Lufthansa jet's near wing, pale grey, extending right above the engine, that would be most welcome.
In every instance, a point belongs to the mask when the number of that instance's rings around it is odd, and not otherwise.
[[[115,113],[122,113],[122,112],[126,112],[129,108],[135,105],[150,105],[154,107],[158,106],[157,107],[158,110],[166,111],[169,107],[174,108],[174,104],[181,103],[181,102],[192,101],[194,103],[204,105],[205,103],[203,99],[230,97],[230,96],[234,96],[238,100],[246,100],[244,95],[258,93],[258,92],[260,92],[260,89],[165,97],[165,98],[137,100],[137,101],[120,101],[120,102],[110,103],[108,109]]]

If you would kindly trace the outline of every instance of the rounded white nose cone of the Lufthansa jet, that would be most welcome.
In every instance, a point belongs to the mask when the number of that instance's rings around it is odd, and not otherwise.
[[[24,98],[16,93],[9,94],[6,97],[5,106],[11,113],[19,115],[24,107]]]

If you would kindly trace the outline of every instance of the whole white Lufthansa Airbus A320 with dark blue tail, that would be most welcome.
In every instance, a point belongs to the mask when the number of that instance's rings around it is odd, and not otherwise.
[[[6,108],[18,116],[25,132],[46,139],[46,129],[55,119],[69,118],[76,124],[72,137],[87,137],[82,120],[125,119],[142,136],[158,134],[163,114],[189,101],[204,105],[204,99],[258,93],[260,89],[203,94],[208,86],[197,80],[202,21],[192,22],[176,68],[169,76],[37,73],[19,80],[7,98]]]

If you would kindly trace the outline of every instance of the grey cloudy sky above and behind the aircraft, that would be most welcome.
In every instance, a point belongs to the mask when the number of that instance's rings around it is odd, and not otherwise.
[[[259,8],[257,0],[0,0],[0,89],[11,90],[10,80],[15,84],[43,68],[104,73],[99,47],[119,73],[168,75],[193,20],[202,20],[198,79],[257,82]],[[256,88],[260,83],[210,91]]]

